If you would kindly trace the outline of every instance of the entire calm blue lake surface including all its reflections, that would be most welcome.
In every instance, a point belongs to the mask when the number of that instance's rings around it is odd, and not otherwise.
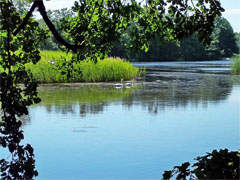
[[[131,88],[41,85],[24,119],[37,179],[160,179],[213,149],[239,148],[240,83],[230,62],[146,66]]]

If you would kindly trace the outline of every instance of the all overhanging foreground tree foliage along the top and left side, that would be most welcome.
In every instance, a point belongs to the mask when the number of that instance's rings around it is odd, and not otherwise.
[[[21,118],[27,107],[40,102],[37,83],[25,69],[28,62],[40,59],[39,45],[46,32],[31,18],[38,10],[56,40],[75,53],[64,66],[71,71],[74,61],[106,55],[112,42],[131,25],[130,47],[148,49],[152,37],[181,39],[197,32],[200,41],[209,43],[214,19],[223,8],[219,0],[154,0],[146,5],[135,0],[79,0],[76,14],[62,20],[64,39],[48,17],[43,0],[31,0],[30,9],[17,12],[12,0],[0,1],[1,122],[0,145],[10,158],[0,160],[2,179],[32,179],[37,176],[33,148],[21,144],[24,138]],[[138,26],[134,26],[138,24]],[[19,85],[22,83],[23,85]]]

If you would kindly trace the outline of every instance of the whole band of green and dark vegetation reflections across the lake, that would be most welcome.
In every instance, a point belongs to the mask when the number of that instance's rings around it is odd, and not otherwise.
[[[219,103],[232,90],[230,76],[189,73],[159,73],[149,71],[145,81],[135,83],[134,88],[115,89],[105,86],[73,85],[40,87],[39,95],[48,113],[100,114],[112,103],[131,109],[142,106],[150,114],[165,109],[191,105],[208,107]]]

